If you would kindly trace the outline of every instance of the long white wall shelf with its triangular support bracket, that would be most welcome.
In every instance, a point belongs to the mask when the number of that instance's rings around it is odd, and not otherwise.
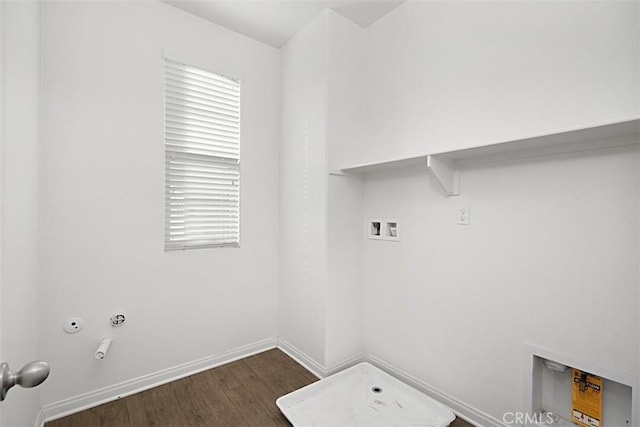
[[[492,144],[373,162],[341,169],[344,174],[368,175],[390,169],[427,167],[446,195],[459,194],[459,169],[472,164],[557,155],[640,144],[640,118],[627,118],[593,126]]]

